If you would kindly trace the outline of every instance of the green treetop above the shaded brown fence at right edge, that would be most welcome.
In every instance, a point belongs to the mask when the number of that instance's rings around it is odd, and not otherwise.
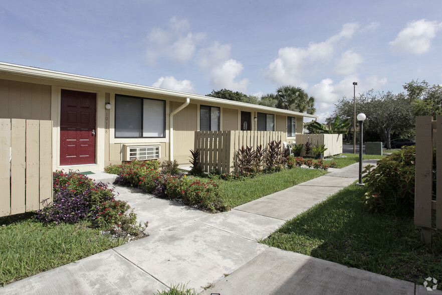
[[[407,91],[408,98],[413,100],[413,113],[415,116],[442,115],[442,85],[430,86],[423,80],[403,85]]]

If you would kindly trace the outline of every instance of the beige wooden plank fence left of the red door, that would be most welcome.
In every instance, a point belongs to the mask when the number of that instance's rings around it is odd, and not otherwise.
[[[0,216],[52,201],[52,121],[0,119]]]

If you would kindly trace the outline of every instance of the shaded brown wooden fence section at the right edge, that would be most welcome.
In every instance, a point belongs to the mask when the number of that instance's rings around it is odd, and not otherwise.
[[[439,129],[439,132],[436,132]],[[442,185],[432,196],[434,177],[442,184],[442,116],[416,117],[416,172],[414,183],[414,224],[422,228],[422,238],[431,246],[431,216],[435,213],[435,228],[442,229]],[[433,171],[433,148],[436,149],[436,169]]]

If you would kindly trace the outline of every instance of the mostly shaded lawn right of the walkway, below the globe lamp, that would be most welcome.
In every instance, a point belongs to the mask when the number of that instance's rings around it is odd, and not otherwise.
[[[351,185],[286,222],[262,242],[284,250],[422,284],[442,277],[442,235],[433,251],[412,217],[369,213],[364,187]],[[442,284],[438,285],[442,289]]]

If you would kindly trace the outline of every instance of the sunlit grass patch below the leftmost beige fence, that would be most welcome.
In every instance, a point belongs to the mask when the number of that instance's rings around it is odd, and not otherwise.
[[[0,286],[122,245],[89,222],[43,224],[32,214],[0,218]]]

